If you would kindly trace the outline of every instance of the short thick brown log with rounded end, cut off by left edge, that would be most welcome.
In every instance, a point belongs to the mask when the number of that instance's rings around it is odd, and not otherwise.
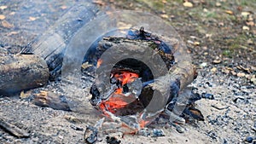
[[[37,55],[0,57],[0,95],[40,87],[46,84],[48,79],[48,66]]]

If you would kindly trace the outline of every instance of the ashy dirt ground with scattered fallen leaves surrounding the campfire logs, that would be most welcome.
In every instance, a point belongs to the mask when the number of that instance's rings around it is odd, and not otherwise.
[[[87,1],[88,2],[88,1]],[[20,52],[27,44],[82,0],[0,1],[0,55]],[[197,67],[195,91],[212,94],[214,100],[196,101],[205,121],[160,128],[166,136],[115,134],[121,143],[251,143],[256,142],[256,3],[254,0],[131,0],[94,1],[102,11],[130,9],[159,15],[175,27],[187,44]],[[40,89],[58,91],[57,82]],[[90,85],[90,84],[88,84]],[[75,88],[74,88],[75,89]],[[90,106],[85,86],[85,112],[37,107],[30,101],[0,95],[0,117],[30,133],[16,138],[0,129],[0,143],[84,143],[86,125],[100,119]],[[83,119],[82,123],[67,120]],[[73,128],[83,128],[73,129]],[[98,143],[106,143],[105,139]]]

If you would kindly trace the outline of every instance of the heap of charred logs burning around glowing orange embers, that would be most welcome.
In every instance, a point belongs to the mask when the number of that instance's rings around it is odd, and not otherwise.
[[[171,43],[171,45],[167,45],[166,42]],[[180,49],[180,44],[177,39],[155,36],[145,32],[143,27],[139,31],[128,32],[127,37],[103,38],[96,48],[96,54],[90,55],[90,60],[97,60],[97,69],[100,73],[104,72],[105,67],[113,65],[111,59],[106,57],[99,59],[110,48],[116,49],[119,54],[132,54],[136,58],[139,58],[140,55],[147,55],[145,60],[148,61],[154,60],[156,55],[160,55],[165,62],[163,65],[155,65],[160,72],[160,76],[155,78],[151,69],[143,63],[145,61],[122,60],[121,56],[124,55],[117,55],[114,52],[108,54],[108,56],[114,55],[117,60],[120,60],[110,72],[112,86],[101,93],[97,89],[97,85],[93,84],[90,89],[91,104],[108,118],[119,119],[122,125],[131,129],[131,133],[143,128],[146,124],[150,124],[157,113],[164,112],[165,109],[168,112],[172,111],[173,102],[171,101],[176,101],[177,96],[196,77],[195,67],[189,60],[187,51]],[[150,53],[149,49],[154,49],[155,53]],[[167,67],[168,72],[165,72],[163,67]],[[141,84],[138,81],[142,81]],[[138,88],[140,85],[143,87]],[[170,89],[170,94],[165,93],[166,89]],[[154,97],[154,92],[159,96]],[[157,106],[160,103],[164,103],[162,108]],[[186,106],[186,103],[183,105]],[[178,117],[178,115],[181,113],[168,113],[169,117]]]

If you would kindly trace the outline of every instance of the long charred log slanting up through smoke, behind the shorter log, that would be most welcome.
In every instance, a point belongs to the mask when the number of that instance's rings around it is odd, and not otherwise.
[[[32,53],[44,58],[49,66],[50,79],[54,80],[61,73],[63,56],[74,33],[98,12],[96,5],[92,3],[74,5],[47,32],[22,49],[21,53]]]

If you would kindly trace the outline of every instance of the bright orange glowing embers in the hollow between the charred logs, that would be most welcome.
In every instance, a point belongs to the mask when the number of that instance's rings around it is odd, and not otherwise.
[[[129,98],[129,96],[125,96],[123,93],[123,86],[125,84],[132,83],[134,80],[139,78],[139,75],[135,72],[119,71],[113,73],[113,77],[119,80],[120,87],[115,90],[108,101],[102,101],[100,108],[103,112],[108,110],[109,112],[115,113],[118,109],[126,107],[131,102],[131,98]]]

